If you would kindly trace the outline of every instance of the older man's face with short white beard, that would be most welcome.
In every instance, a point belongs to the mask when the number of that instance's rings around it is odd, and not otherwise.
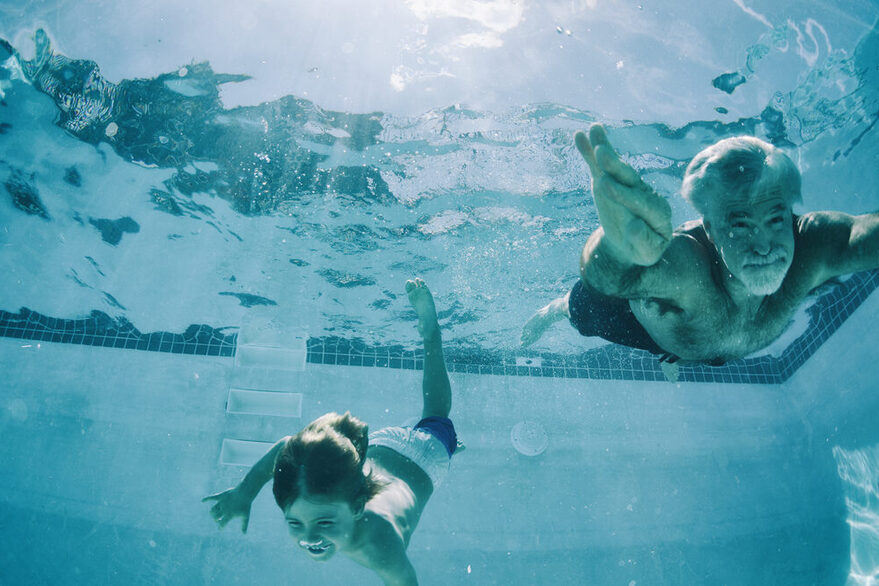
[[[730,274],[754,295],[778,291],[794,256],[792,212],[777,191],[721,201],[706,229]]]

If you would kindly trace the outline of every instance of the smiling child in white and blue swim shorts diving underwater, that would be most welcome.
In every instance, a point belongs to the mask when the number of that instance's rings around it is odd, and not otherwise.
[[[387,585],[417,585],[406,554],[421,513],[449,469],[457,436],[448,418],[451,386],[430,290],[406,282],[424,340],[422,419],[414,427],[368,434],[366,423],[327,413],[278,441],[234,488],[207,496],[225,527],[242,518],[269,480],[297,545],[315,561],[337,552],[373,570]]]

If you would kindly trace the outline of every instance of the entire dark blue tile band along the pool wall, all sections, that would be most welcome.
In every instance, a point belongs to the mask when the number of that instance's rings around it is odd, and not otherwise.
[[[879,287],[879,270],[857,273],[826,287],[809,307],[809,328],[780,357],[746,358],[723,366],[681,365],[679,382],[779,384],[787,380],[852,312]],[[123,317],[92,311],[86,318],[57,319],[27,308],[13,314],[0,310],[0,337],[84,344],[175,354],[234,356],[237,328],[191,325],[182,334],[141,333]],[[312,364],[420,370],[422,350],[401,345],[375,346],[335,336],[309,338]],[[450,372],[500,376],[665,381],[659,360],[643,350],[608,344],[581,354],[512,353],[482,348],[448,348]]]

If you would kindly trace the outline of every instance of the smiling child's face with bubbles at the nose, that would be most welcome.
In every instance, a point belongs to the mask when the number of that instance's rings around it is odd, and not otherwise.
[[[320,562],[348,548],[361,515],[345,501],[307,495],[284,510],[290,535],[305,553]]]

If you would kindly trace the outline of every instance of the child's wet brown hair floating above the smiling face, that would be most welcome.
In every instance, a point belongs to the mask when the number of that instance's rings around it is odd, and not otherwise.
[[[304,491],[338,499],[357,513],[384,486],[364,474],[369,427],[350,413],[327,413],[287,439],[275,459],[272,492],[286,508]]]

